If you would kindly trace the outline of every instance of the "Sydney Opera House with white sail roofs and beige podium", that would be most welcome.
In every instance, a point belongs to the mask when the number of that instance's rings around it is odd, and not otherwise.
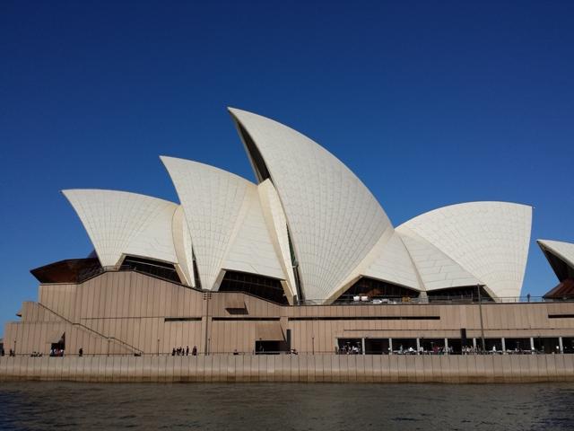
[[[321,145],[230,116],[257,183],[162,156],[178,202],[63,191],[94,251],[31,270],[39,301],[6,325],[6,351],[574,351],[574,244],[540,240],[560,284],[521,297],[532,207],[461,203],[394,226]]]

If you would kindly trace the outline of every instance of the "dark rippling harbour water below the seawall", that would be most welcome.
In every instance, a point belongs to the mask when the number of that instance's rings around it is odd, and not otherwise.
[[[574,429],[574,384],[0,383],[0,429]]]

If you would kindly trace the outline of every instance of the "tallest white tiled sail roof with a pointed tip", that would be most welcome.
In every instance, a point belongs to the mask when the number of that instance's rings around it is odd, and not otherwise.
[[[343,163],[309,137],[230,109],[260,181],[270,178],[289,225],[309,300],[326,300],[380,237],[393,229],[377,200]]]

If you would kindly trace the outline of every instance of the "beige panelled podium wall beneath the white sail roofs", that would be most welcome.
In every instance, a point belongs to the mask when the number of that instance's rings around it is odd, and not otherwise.
[[[170,353],[196,346],[204,352],[252,353],[261,319],[272,319],[301,353],[332,353],[337,338],[453,338],[465,328],[478,338],[477,304],[381,304],[279,306],[256,297],[196,290],[135,272],[108,272],[81,285],[40,285],[39,303],[24,303],[22,320],[4,330],[6,352],[48,353],[54,330],[65,330],[66,353],[84,355]],[[230,304],[245,303],[247,314]],[[574,337],[574,303],[491,303],[483,305],[484,335]],[[438,319],[421,319],[422,317]],[[327,320],[328,319],[328,320]]]

